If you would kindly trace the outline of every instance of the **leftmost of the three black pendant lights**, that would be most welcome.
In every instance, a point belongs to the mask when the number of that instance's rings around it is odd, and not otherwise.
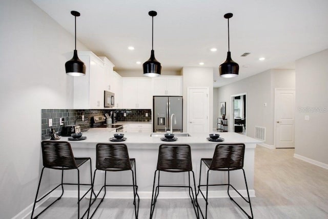
[[[86,65],[77,57],[76,50],[76,17],[80,16],[77,11],[71,11],[71,14],[75,17],[75,49],[73,58],[65,63],[66,74],[72,76],[84,76],[86,75]]]

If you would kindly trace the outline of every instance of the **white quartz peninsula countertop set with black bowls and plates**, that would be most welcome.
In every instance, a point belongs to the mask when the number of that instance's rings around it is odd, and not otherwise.
[[[118,123],[119,124],[119,123]],[[82,141],[69,141],[72,147],[95,147],[97,143],[112,143],[109,138],[113,137],[114,132],[111,132],[112,128],[90,128],[88,131],[83,132],[83,136],[87,136],[86,140]],[[257,143],[262,143],[246,135],[238,134],[235,132],[211,132],[218,133],[220,137],[224,138],[222,143],[244,143],[246,148],[255,147]],[[158,148],[160,144],[189,144],[193,146],[209,146],[213,147],[219,142],[210,142],[207,140],[209,133],[189,133],[191,136],[177,136],[177,141],[165,142],[161,141],[161,137],[150,136],[151,133],[134,133],[125,132],[126,141],[120,142],[133,147],[149,148],[156,146]],[[59,141],[68,141],[68,137],[61,136]],[[252,146],[250,146],[252,145]]]

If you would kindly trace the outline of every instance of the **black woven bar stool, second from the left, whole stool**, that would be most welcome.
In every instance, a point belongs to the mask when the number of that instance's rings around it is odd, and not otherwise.
[[[93,205],[93,203],[97,200],[98,195],[100,192],[104,189],[105,193],[104,196],[101,198],[99,204],[97,205],[96,209],[92,213],[91,217],[93,217],[94,213],[98,209],[99,205],[104,201],[105,195],[106,195],[106,187],[110,186],[131,186],[133,187],[133,205],[134,205],[134,213],[135,218],[138,218],[139,213],[139,195],[137,193],[138,186],[137,186],[137,179],[136,179],[136,164],[135,164],[135,158],[129,158],[128,148],[125,144],[109,144],[109,143],[98,143],[96,145],[96,169],[94,171],[93,175],[93,184],[96,177],[96,171],[97,170],[104,170],[105,171],[105,181],[104,186],[101,187],[99,192],[96,194],[96,198],[90,205]],[[134,170],[132,169],[134,166]],[[107,185],[106,184],[106,176],[107,171],[125,171],[125,170],[131,170],[132,172],[132,185]],[[138,206],[136,206],[136,196],[138,197]],[[88,218],[89,218],[89,212],[88,212]]]

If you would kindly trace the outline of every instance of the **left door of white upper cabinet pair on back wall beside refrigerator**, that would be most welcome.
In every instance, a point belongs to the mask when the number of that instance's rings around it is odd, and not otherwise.
[[[137,85],[135,79],[122,78],[122,108],[136,109],[137,108]]]

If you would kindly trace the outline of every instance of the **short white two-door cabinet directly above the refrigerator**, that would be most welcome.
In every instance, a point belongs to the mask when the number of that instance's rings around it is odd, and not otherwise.
[[[182,96],[182,76],[153,77],[152,95]]]

